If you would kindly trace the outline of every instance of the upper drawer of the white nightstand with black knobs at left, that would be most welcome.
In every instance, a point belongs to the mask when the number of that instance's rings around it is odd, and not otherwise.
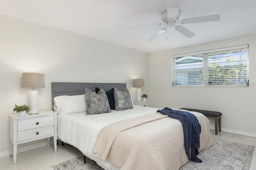
[[[18,120],[18,131],[41,128],[51,125],[54,125],[54,116],[33,118],[28,120]]]

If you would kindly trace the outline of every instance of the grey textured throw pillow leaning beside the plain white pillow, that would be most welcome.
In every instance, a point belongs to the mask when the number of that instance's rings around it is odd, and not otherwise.
[[[108,103],[108,97],[103,88],[96,94],[85,88],[86,115],[112,112]]]

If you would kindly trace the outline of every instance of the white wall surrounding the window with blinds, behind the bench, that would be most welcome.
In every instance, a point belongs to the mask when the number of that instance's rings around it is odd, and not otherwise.
[[[249,88],[172,87],[172,55],[243,44],[249,44]],[[256,137],[256,35],[150,54],[150,98],[157,108],[222,112],[222,131]]]

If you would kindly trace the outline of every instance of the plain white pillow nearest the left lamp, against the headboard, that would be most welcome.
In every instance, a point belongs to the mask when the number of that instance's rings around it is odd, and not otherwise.
[[[85,94],[55,97],[54,111],[59,114],[86,112]]]

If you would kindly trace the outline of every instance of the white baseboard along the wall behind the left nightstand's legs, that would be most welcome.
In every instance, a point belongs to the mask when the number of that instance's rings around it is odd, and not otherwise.
[[[59,142],[61,142],[61,141],[59,140]],[[51,145],[53,144],[53,140],[50,140],[50,144]],[[41,147],[44,147],[44,146],[47,146],[47,141],[40,142],[40,143],[37,143],[37,144],[32,144],[32,145],[29,145],[29,146],[24,146],[22,148],[18,148],[17,149],[17,154],[21,153],[21,152],[26,152],[26,151],[32,150],[32,149],[41,148]],[[0,153],[0,158],[6,157],[6,156],[10,156],[10,151],[9,150]]]

